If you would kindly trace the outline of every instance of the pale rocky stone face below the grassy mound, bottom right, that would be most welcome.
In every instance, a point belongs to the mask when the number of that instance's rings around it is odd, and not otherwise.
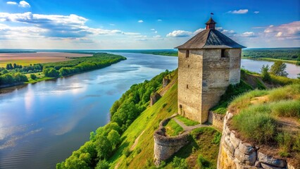
[[[242,142],[235,137],[235,130],[230,130],[227,121],[232,118],[227,112],[224,118],[222,139],[218,156],[218,168],[294,168],[284,159],[268,156],[258,146]]]

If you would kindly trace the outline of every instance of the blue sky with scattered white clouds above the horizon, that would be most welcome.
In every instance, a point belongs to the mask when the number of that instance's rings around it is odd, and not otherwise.
[[[300,46],[299,0],[0,0],[0,49],[172,49],[211,12],[249,48]]]

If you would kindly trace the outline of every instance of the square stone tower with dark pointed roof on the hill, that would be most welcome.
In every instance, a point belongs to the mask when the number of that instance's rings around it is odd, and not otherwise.
[[[206,30],[178,49],[178,113],[205,123],[229,84],[240,80],[241,52],[237,44],[215,30],[210,18]]]

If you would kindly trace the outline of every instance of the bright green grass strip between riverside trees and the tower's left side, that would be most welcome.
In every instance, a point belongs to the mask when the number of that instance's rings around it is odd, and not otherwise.
[[[177,79],[177,77],[175,77]],[[164,105],[164,106],[163,106]],[[170,111],[168,111],[170,110]],[[119,165],[119,168],[145,168],[148,163],[154,165],[154,131],[157,130],[161,120],[177,113],[177,83],[171,87],[165,95],[159,99],[154,106],[147,108],[139,117],[127,128],[121,136],[123,140],[115,154],[108,160],[112,163],[111,168]],[[131,147],[135,139],[141,135],[139,142],[132,154],[127,158],[122,151],[126,147]],[[142,151],[137,154],[137,150]]]

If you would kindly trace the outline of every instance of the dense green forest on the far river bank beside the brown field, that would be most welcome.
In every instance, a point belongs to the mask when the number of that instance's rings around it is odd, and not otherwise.
[[[44,77],[61,77],[87,70],[104,68],[125,59],[125,57],[120,55],[101,53],[94,54],[93,56],[72,58],[71,61],[55,63],[38,63],[25,66],[8,63],[6,68],[0,68],[0,86],[28,82],[28,77],[25,75],[26,73],[43,72]],[[30,77],[33,77],[32,80],[37,78],[34,74],[30,75]]]

